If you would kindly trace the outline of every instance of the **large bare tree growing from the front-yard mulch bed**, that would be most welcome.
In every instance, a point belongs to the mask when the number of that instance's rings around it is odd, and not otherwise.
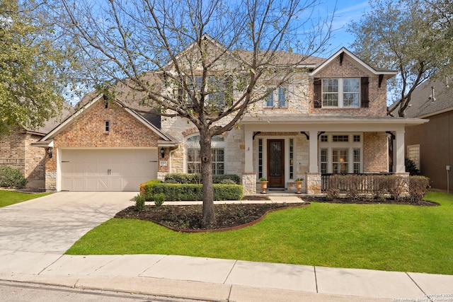
[[[215,221],[212,137],[231,130],[272,85],[320,52],[331,19],[317,0],[62,0],[59,22],[82,50],[86,79],[120,83],[150,111],[200,132],[202,223]],[[332,17],[331,17],[332,18]],[[298,54],[296,54],[298,53]],[[115,97],[115,95],[111,95]]]

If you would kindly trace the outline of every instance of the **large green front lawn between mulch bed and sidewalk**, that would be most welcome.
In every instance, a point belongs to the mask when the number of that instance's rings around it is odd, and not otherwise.
[[[67,254],[189,255],[453,274],[453,195],[428,192],[425,199],[441,207],[312,203],[220,233],[177,233],[149,221],[110,219]]]

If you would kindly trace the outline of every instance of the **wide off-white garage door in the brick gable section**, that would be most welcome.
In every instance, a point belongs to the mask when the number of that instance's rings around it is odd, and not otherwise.
[[[62,150],[61,169],[62,190],[138,191],[157,178],[157,150]]]

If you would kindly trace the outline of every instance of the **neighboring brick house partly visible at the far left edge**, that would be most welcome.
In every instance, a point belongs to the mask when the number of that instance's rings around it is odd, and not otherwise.
[[[69,105],[61,115],[69,114]],[[45,189],[45,150],[32,146],[35,141],[45,137],[60,118],[47,120],[42,127],[16,128],[11,134],[0,136],[0,165],[8,165],[21,171],[27,180],[27,188]]]

